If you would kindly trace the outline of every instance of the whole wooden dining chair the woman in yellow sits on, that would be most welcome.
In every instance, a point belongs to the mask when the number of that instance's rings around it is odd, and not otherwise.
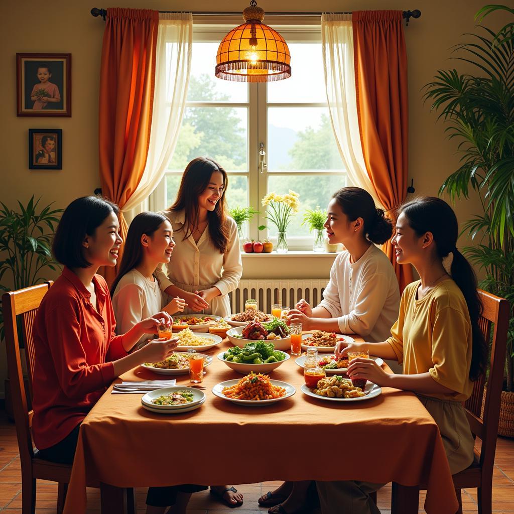
[[[479,320],[485,340],[491,342],[491,358],[487,389],[484,401],[486,377],[476,380],[473,393],[465,402],[466,414],[473,435],[481,440],[481,447],[475,447],[474,462],[468,468],[453,475],[453,484],[458,500],[458,514],[462,514],[461,489],[478,490],[479,514],[490,514],[492,509],[492,471],[500,417],[500,399],[505,370],[505,351],[509,324],[509,303],[503,298],[479,289],[484,311]],[[491,325],[493,334],[491,340]],[[483,407],[483,412],[482,412]],[[391,514],[418,512],[419,491],[425,485],[403,486],[393,482]]]

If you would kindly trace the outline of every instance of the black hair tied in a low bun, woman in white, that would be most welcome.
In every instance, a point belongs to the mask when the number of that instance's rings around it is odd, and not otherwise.
[[[364,234],[376,245],[385,243],[393,235],[393,224],[384,211],[375,207],[370,193],[361,188],[342,188],[334,195],[341,210],[350,221],[364,220]]]

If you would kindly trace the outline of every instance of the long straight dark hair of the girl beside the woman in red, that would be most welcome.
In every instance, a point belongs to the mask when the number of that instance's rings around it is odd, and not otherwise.
[[[121,278],[141,264],[143,260],[141,236],[143,234],[152,236],[167,219],[166,216],[156,212],[141,212],[132,220],[130,227],[128,227],[120,268],[111,286],[111,296],[114,296],[114,291]]]

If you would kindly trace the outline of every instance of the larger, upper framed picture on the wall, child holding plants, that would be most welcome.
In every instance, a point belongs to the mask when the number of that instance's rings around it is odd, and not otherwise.
[[[71,53],[16,53],[18,116],[71,116]]]

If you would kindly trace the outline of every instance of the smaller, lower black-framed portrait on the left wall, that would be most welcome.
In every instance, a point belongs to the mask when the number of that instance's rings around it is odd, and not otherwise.
[[[29,128],[29,170],[62,170],[62,155],[60,128]]]

